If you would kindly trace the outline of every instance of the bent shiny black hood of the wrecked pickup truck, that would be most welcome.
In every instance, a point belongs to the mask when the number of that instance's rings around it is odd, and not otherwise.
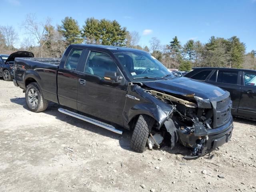
[[[143,82],[149,88],[176,95],[194,94],[202,99],[211,100],[226,93],[225,90],[207,83],[186,77],[177,77],[168,80]]]

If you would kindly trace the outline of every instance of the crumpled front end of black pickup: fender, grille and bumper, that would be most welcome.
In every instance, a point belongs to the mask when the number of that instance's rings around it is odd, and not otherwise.
[[[229,92],[210,100],[200,98],[197,94],[176,95],[162,89],[152,90],[145,84],[133,84],[128,94],[138,98],[140,102],[126,99],[126,124],[138,114],[151,116],[156,120],[156,130],[162,130],[164,127],[170,135],[171,148],[179,141],[192,149],[192,156],[200,156],[224,144],[223,142],[228,142],[232,134],[233,119],[229,115],[232,101]],[[225,103],[222,105],[225,106],[222,106],[222,111],[218,113],[217,104],[223,101]],[[223,122],[221,127],[217,128],[216,122],[220,120]]]

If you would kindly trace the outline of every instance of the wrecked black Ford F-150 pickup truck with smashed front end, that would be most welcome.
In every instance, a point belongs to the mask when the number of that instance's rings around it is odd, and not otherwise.
[[[13,80],[33,112],[58,110],[118,134],[143,152],[177,142],[197,157],[228,142],[233,130],[229,92],[174,76],[142,50],[74,44],[61,59],[16,58]]]

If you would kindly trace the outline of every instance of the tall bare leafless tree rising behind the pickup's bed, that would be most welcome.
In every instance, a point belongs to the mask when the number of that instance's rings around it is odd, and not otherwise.
[[[51,22],[50,18],[47,18],[44,22],[37,22],[35,14],[28,14],[26,20],[22,23],[22,27],[27,31],[28,34],[31,34],[36,38],[39,44],[39,54],[42,57],[42,48],[46,44],[48,37],[45,38],[44,33],[46,31],[46,26],[49,26]]]

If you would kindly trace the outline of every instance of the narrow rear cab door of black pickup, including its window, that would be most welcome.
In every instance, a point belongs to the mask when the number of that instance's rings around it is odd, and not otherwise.
[[[66,60],[64,67],[58,70],[58,99],[64,106],[77,110],[78,68],[82,63],[85,50],[74,48]]]

